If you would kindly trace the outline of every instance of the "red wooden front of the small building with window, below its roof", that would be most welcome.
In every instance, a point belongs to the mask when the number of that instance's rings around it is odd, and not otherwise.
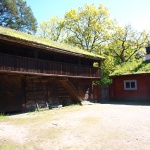
[[[150,73],[111,76],[110,100],[150,102]]]

